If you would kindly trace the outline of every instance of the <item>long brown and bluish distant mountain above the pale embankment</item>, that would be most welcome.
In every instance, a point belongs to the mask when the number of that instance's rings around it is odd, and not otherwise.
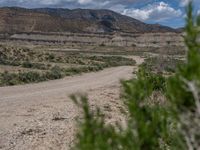
[[[0,8],[0,32],[176,32],[111,10],[18,7]]]

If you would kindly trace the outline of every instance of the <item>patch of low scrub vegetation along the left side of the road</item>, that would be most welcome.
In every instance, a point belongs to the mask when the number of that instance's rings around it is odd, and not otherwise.
[[[135,65],[130,58],[113,55],[40,52],[0,46],[0,86],[60,79],[108,67]]]

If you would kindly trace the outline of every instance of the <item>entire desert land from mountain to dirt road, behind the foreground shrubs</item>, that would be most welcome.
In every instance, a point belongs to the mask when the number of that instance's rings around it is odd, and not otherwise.
[[[0,8],[0,149],[71,149],[83,119],[71,94],[125,127],[120,81],[173,75],[184,35],[110,10]]]

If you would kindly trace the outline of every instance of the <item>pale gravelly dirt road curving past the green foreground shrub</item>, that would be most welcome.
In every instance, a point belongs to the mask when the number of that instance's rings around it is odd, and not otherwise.
[[[116,67],[96,73],[38,84],[0,88],[0,149],[69,149],[80,112],[69,94],[87,92],[108,120],[123,120],[119,80],[130,78],[135,67]]]

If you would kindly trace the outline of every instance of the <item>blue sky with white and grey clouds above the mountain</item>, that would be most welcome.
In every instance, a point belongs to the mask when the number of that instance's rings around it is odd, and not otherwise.
[[[0,0],[0,6],[110,9],[146,23],[184,26],[185,6],[191,0]],[[200,14],[200,0],[193,0]]]

